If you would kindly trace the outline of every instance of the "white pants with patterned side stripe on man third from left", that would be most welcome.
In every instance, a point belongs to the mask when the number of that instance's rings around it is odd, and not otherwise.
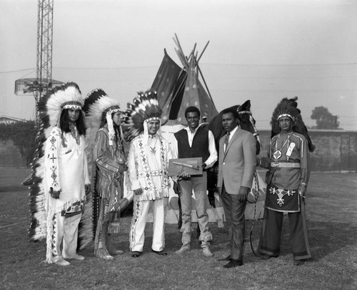
[[[136,201],[134,197],[133,219],[129,234],[131,251],[143,251],[144,231],[149,209],[153,210],[153,244],[151,249],[162,251],[165,248],[165,206],[167,198],[154,201]]]

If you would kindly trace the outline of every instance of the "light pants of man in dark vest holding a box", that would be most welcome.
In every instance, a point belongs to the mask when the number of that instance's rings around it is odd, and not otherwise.
[[[207,172],[203,171],[203,176],[191,176],[191,179],[178,181],[181,189],[181,211],[182,211],[182,246],[191,243],[191,211],[192,211],[192,189],[196,199],[196,214],[198,226],[201,230],[199,237],[201,247],[205,248],[210,245],[209,241],[212,239],[211,232],[208,228],[208,214],[207,214]]]

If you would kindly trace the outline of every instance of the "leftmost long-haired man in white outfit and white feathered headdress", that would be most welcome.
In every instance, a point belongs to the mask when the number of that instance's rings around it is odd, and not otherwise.
[[[83,104],[74,83],[55,87],[39,102],[42,129],[46,128],[40,185],[46,211],[46,261],[61,266],[69,265],[65,259],[84,259],[76,254],[79,221],[90,191]]]

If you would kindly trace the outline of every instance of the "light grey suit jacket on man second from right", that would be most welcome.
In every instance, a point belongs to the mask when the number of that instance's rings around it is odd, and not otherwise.
[[[256,170],[256,139],[253,134],[238,128],[224,152],[224,139],[219,140],[217,187],[222,194],[222,186],[228,194],[238,194],[239,188],[251,188]]]

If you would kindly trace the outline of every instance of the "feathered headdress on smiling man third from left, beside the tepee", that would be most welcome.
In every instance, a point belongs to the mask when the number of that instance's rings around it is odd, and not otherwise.
[[[128,103],[126,110],[126,129],[124,129],[126,141],[131,141],[143,133],[148,135],[147,122],[160,121],[161,114],[162,109],[159,107],[156,91],[139,92],[133,104]]]

